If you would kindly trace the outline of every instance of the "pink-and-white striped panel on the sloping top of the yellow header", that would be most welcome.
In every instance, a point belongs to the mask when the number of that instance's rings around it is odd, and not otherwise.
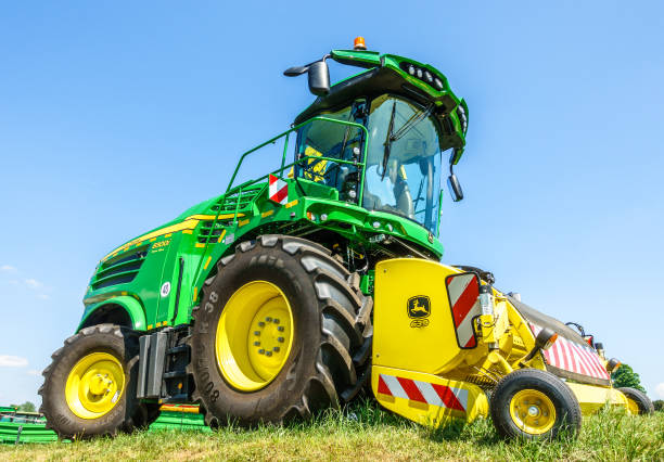
[[[541,331],[537,324],[531,323],[535,336]],[[610,380],[609,373],[598,356],[597,351],[589,345],[577,344],[559,335],[558,339],[549,348],[544,350],[548,364],[576,374],[587,375],[593,378]]]

